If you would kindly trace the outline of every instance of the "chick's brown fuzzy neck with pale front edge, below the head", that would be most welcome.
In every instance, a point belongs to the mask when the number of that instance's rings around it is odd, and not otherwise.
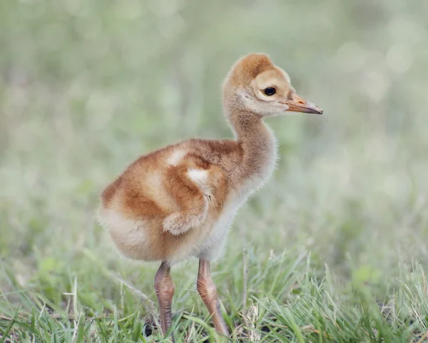
[[[275,166],[275,136],[260,116],[246,109],[229,109],[226,114],[243,151],[240,177],[263,182],[270,177]]]

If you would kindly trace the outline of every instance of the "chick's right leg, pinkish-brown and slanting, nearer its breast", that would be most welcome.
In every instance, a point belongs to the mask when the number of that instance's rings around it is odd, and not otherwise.
[[[220,334],[228,336],[228,327],[226,326],[225,319],[223,319],[223,314],[221,314],[220,310],[217,287],[215,287],[213,279],[211,278],[211,264],[209,261],[203,259],[199,260],[197,287],[200,297],[203,299],[208,312],[210,312],[213,318],[215,329],[220,332]]]

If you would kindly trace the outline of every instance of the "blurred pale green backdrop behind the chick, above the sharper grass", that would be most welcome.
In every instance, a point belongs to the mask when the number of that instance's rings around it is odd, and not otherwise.
[[[325,114],[267,120],[278,168],[217,268],[246,249],[374,282],[426,266],[427,17],[427,1],[1,1],[0,289],[60,304],[76,276],[113,302],[103,268],[151,289],[157,266],[94,222],[98,194],[152,149],[232,136],[220,86],[250,52]]]

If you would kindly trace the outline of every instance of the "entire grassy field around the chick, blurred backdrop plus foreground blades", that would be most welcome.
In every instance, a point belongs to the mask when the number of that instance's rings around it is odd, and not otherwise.
[[[162,342],[158,264],[120,257],[98,194],[140,154],[230,136],[218,85],[249,51],[325,115],[268,121],[277,171],[213,264],[231,341],[428,342],[424,1],[0,6],[0,343]],[[176,342],[217,341],[197,267],[172,271]]]

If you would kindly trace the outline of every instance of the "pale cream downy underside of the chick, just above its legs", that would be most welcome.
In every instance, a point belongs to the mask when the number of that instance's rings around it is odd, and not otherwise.
[[[223,252],[233,218],[244,200],[244,197],[230,197],[215,221],[208,218],[201,227],[178,236],[163,234],[161,221],[154,224],[143,219],[129,219],[111,209],[101,209],[98,214],[99,222],[108,230],[116,248],[124,256],[176,264],[189,257],[218,258]]]

